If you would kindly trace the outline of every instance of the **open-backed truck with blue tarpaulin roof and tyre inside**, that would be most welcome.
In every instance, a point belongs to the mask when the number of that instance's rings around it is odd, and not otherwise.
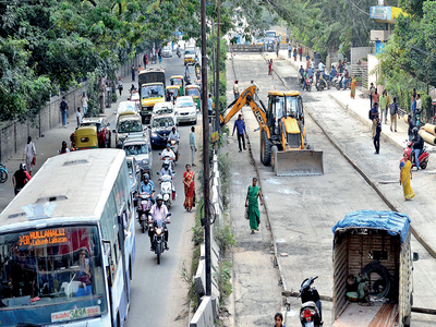
[[[332,232],[332,326],[410,326],[413,261],[408,215],[358,210],[347,214]]]

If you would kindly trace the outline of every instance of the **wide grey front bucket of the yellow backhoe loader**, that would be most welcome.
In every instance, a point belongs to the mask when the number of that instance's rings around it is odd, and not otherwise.
[[[324,174],[323,152],[295,149],[279,152],[272,147],[272,169],[277,175]]]

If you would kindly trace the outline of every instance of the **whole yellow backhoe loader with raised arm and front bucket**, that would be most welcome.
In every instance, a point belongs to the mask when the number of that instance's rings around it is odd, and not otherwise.
[[[246,88],[229,105],[221,125],[249,105],[259,124],[261,161],[271,165],[277,175],[315,175],[324,173],[323,152],[307,144],[303,100],[296,90],[270,90],[268,107],[254,100],[256,86]]]

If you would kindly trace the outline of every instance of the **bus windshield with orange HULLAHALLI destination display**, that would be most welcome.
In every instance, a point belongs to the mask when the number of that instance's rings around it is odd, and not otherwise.
[[[2,326],[46,325],[107,313],[96,226],[0,235]]]

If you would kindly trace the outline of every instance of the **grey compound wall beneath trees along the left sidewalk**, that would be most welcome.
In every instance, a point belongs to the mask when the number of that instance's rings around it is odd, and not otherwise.
[[[132,64],[134,64],[135,68],[143,64],[143,56],[144,53],[138,53],[130,62],[120,66],[117,76],[129,76]],[[36,140],[61,123],[62,118],[59,106],[62,96],[65,97],[70,107],[66,116],[74,116],[77,107],[81,107],[82,93],[86,90],[87,83],[84,82],[78,88],[72,88],[59,96],[50,97],[49,101],[40,110],[39,116],[34,123],[31,121],[0,122],[0,162],[7,160],[16,153],[22,153],[24,146],[27,144],[27,136],[32,136],[33,140]]]

